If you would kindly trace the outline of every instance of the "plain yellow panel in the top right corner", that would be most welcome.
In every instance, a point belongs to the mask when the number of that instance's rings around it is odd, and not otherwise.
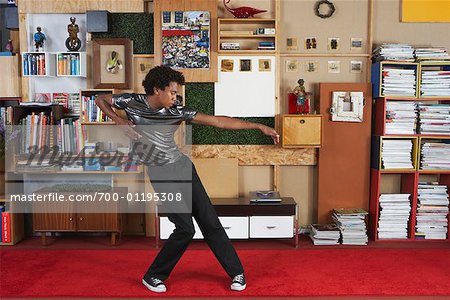
[[[402,0],[402,22],[450,22],[450,0]]]

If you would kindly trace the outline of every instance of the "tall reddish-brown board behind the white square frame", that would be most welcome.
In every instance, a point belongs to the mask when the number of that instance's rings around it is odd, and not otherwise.
[[[362,123],[332,122],[332,91],[362,91],[366,105]],[[320,84],[323,142],[319,150],[318,222],[331,221],[333,208],[369,207],[372,98],[370,84]]]

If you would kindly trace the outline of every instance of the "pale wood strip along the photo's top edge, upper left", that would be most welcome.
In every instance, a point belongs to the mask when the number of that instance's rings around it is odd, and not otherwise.
[[[20,0],[19,13],[85,13],[87,10],[108,10],[111,13],[144,12],[142,0]]]

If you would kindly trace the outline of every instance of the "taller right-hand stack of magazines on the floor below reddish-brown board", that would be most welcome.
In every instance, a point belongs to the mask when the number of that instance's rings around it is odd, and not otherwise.
[[[367,245],[366,216],[363,209],[333,210],[333,220],[341,231],[343,245]]]

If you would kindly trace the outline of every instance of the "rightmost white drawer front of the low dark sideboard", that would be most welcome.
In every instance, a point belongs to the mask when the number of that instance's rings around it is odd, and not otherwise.
[[[250,217],[250,238],[291,238],[294,236],[294,216]]]

